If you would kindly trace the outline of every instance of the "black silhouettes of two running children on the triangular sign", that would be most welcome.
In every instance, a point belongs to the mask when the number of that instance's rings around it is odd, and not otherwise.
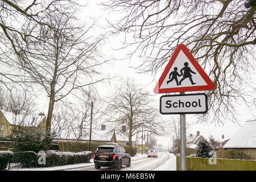
[[[192,75],[191,75],[191,73],[193,73],[193,74],[196,74],[196,73],[193,72],[193,71],[191,70],[191,68],[188,67],[188,62],[185,62],[185,63],[184,63],[184,66],[185,66],[185,67],[183,67],[182,69],[180,69],[180,73],[181,73],[181,74],[179,74],[179,73],[177,72],[177,67],[174,68],[174,71],[171,72],[170,75],[169,75],[169,79],[170,79],[170,80],[167,81],[167,85],[168,85],[168,83],[170,83],[170,82],[173,81],[173,80],[176,81],[177,86],[178,86],[178,85],[181,85],[181,82],[182,82],[183,80],[185,80],[185,78],[189,78],[189,80],[191,81],[191,84],[192,84],[192,85],[195,85],[195,84],[196,84],[196,83],[193,82],[193,80],[192,80]],[[184,71],[184,72],[183,72],[183,71]],[[182,75],[183,75],[183,78],[181,78],[181,80],[178,82],[177,76],[180,77],[180,76],[182,76]]]

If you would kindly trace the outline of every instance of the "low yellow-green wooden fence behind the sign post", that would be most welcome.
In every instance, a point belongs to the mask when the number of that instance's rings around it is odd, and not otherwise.
[[[210,162],[209,162],[210,160]],[[187,171],[255,171],[256,160],[186,158]],[[180,169],[180,156],[176,156],[176,168]]]

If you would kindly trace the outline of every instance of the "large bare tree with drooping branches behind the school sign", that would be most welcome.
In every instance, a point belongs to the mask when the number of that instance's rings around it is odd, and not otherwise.
[[[217,1],[118,1],[102,2],[117,11],[110,22],[115,33],[125,34],[122,48],[128,58],[142,58],[137,69],[155,74],[170,60],[178,44],[185,44],[212,78],[215,89],[207,91],[213,122],[227,117],[236,121],[234,104],[251,103],[246,93],[253,88],[255,70],[255,0]],[[129,39],[129,35],[134,40]],[[212,108],[214,107],[214,108]],[[207,115],[201,115],[207,122]]]

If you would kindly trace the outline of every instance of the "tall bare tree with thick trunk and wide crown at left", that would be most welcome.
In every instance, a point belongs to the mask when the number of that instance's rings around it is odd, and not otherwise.
[[[13,71],[1,74],[5,78],[1,82],[7,88],[10,82],[20,82],[46,91],[47,131],[56,101],[104,80],[96,67],[108,61],[98,51],[106,35],[96,34],[94,20],[78,22],[77,5],[69,0],[1,1],[1,43],[5,47],[0,61]],[[62,97],[56,98],[57,94]]]

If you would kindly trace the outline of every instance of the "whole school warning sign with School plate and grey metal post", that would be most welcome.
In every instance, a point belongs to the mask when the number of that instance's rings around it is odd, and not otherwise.
[[[182,77],[181,77],[182,76]],[[160,97],[161,114],[180,114],[180,170],[186,170],[186,118],[185,114],[207,113],[205,94],[187,94],[185,92],[212,90],[212,80],[197,63],[184,44],[179,44],[159,78],[154,93],[180,92],[180,96]]]

